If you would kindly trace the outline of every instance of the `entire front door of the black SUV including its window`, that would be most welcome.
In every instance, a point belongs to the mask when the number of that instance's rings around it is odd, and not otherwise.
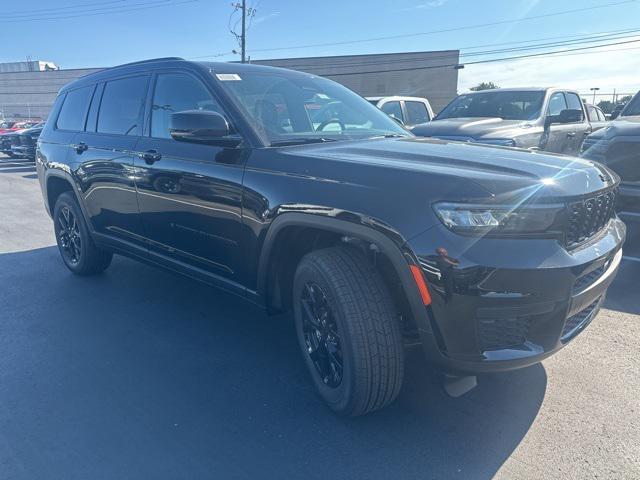
[[[209,110],[224,115],[200,79],[185,71],[155,75],[149,136],[136,167],[138,203],[152,254],[171,257],[234,279],[241,228],[243,150],[171,138],[172,113]],[[229,118],[227,116],[227,118]],[[155,159],[143,158],[154,152]]]

